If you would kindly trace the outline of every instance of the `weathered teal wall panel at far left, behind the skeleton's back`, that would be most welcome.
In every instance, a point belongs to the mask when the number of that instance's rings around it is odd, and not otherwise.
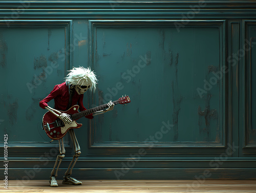
[[[71,29],[71,20],[1,21],[1,132],[10,146],[40,148],[50,141],[41,131],[45,111],[38,103],[70,68]]]

